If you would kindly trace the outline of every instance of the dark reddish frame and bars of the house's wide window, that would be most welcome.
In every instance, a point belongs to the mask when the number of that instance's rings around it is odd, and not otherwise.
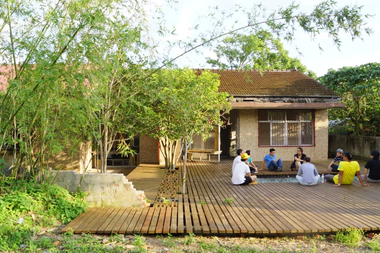
[[[286,120],[286,112],[288,110],[294,110],[294,111],[310,111],[312,113],[312,120],[306,120],[306,121],[294,121],[294,120]],[[285,120],[276,120],[275,123],[284,123],[284,144],[283,145],[275,145],[272,144],[272,123],[273,120],[259,120],[260,111],[284,111],[285,112]],[[315,110],[314,109],[258,109],[257,113],[257,122],[258,122],[258,146],[259,147],[299,147],[299,146],[305,146],[305,147],[315,147]],[[260,145],[260,123],[270,123],[269,130],[270,130],[270,145]],[[298,123],[299,124],[299,135],[298,135],[298,144],[297,145],[287,145],[288,142],[288,123]],[[313,144],[301,144],[301,126],[302,123],[313,123]]]

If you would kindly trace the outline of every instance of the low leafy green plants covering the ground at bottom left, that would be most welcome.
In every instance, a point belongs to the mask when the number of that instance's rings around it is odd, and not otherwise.
[[[0,190],[0,251],[17,250],[20,244],[28,244],[29,250],[49,244],[34,241],[41,226],[66,223],[87,208],[82,192],[70,195],[57,185],[2,178]]]

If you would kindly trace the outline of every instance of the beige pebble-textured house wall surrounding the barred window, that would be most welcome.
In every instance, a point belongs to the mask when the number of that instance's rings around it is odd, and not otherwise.
[[[252,160],[261,161],[270,147],[259,147],[258,109],[239,110],[239,148],[251,150]],[[297,147],[274,147],[278,158],[293,160]],[[328,158],[328,110],[315,110],[315,146],[302,147],[312,160]]]

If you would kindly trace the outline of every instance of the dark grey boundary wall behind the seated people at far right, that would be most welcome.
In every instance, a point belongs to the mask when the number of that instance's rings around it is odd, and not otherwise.
[[[336,156],[336,150],[351,152],[354,158],[369,159],[372,150],[380,150],[380,137],[329,135],[329,157]]]

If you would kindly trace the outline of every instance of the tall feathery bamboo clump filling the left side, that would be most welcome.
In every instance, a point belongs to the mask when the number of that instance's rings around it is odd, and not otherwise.
[[[109,123],[103,118],[120,103],[102,107],[107,97],[95,95],[120,72],[117,50],[132,58],[146,48],[140,41],[145,3],[6,1],[0,11],[1,74],[8,81],[0,95],[0,143],[20,147],[12,166],[46,168],[50,154],[67,147],[71,155],[91,141],[89,123]]]

